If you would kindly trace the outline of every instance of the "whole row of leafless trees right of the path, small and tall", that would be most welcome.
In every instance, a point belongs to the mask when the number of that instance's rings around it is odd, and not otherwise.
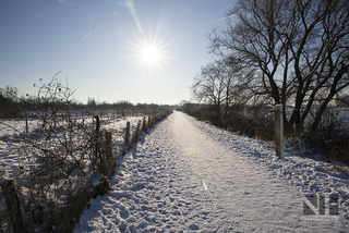
[[[233,103],[282,103],[291,107],[284,111],[288,130],[299,135],[305,126],[316,131],[348,90],[346,0],[238,0],[226,28],[208,38],[218,59],[201,69],[192,90],[219,119]]]

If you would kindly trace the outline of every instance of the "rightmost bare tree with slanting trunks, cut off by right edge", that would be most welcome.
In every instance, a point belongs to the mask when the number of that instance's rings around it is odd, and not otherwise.
[[[341,0],[297,3],[293,22],[301,32],[293,38],[284,33],[298,84],[290,123],[302,131],[311,107],[317,103],[312,122],[316,130],[328,103],[349,85],[349,8]]]

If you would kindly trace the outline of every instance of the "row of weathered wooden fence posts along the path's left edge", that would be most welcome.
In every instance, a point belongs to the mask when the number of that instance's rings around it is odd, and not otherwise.
[[[99,116],[95,115],[96,119],[96,130],[92,139],[93,148],[93,158],[92,162],[95,162],[97,165],[98,172],[101,174],[99,183],[96,186],[83,186],[79,187],[80,189],[75,195],[69,196],[69,205],[65,204],[60,208],[59,211],[55,211],[55,203],[49,203],[48,200],[41,200],[44,203],[40,206],[50,204],[51,207],[47,207],[40,210],[41,219],[45,219],[47,222],[47,228],[50,225],[56,225],[56,228],[70,232],[73,230],[74,224],[79,222],[80,216],[86,209],[86,205],[91,198],[95,198],[98,195],[104,195],[110,191],[109,177],[115,173],[116,161],[120,155],[124,155],[130,147],[136,143],[141,136],[142,132],[146,132],[148,128],[153,127],[154,124],[170,112],[161,112],[155,115],[148,115],[147,120],[144,116],[143,120],[137,122],[135,131],[131,134],[130,132],[130,122],[127,122],[125,137],[122,150],[118,154],[112,151],[112,137],[111,132],[106,132],[105,134],[100,133],[100,122]],[[130,138],[131,137],[131,138]],[[16,186],[14,180],[4,181],[0,183],[2,193],[4,194],[5,209],[8,211],[9,220],[11,221],[11,228],[14,232],[34,232],[32,223],[29,220],[32,212],[25,212],[24,209],[28,209],[26,206],[28,204],[22,203],[22,194],[19,192],[21,188]],[[58,205],[57,205],[58,206]],[[24,208],[26,207],[26,208]],[[29,210],[28,210],[29,211]],[[62,220],[62,218],[68,218]],[[44,221],[44,220],[43,220]],[[61,221],[61,222],[58,222]],[[67,225],[67,223],[71,225]],[[44,229],[45,231],[48,229]],[[11,230],[10,230],[11,231]]]

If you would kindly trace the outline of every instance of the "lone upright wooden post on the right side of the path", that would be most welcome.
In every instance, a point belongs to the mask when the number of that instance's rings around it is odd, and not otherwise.
[[[275,144],[276,156],[284,157],[284,112],[282,105],[275,106]]]

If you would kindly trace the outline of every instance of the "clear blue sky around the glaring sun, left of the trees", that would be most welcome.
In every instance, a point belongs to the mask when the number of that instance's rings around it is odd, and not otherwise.
[[[232,0],[1,0],[0,87],[36,94],[58,78],[86,102],[190,100],[207,35]],[[144,48],[157,51],[154,61]]]

